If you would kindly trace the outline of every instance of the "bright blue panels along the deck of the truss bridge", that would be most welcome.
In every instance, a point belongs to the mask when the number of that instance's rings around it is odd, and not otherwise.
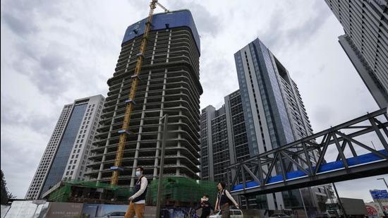
[[[382,155],[388,156],[388,151],[387,150],[380,150],[379,151]],[[359,155],[358,157],[351,157],[346,159],[348,162],[348,166],[356,166],[360,164],[368,164],[370,162],[375,162],[381,160],[382,157],[379,157],[373,153],[368,153],[365,155]],[[335,171],[344,168],[344,162],[341,160],[337,162],[329,162],[326,164],[321,164],[320,169],[318,170],[318,174],[320,173],[325,173],[328,171]],[[308,171],[308,169],[306,169]],[[315,170],[315,167],[313,167],[313,170]],[[307,176],[303,171],[298,170],[298,171],[292,171],[286,174],[286,180],[291,180],[291,179],[297,179],[297,178],[302,178]],[[267,185],[271,183],[279,183],[283,181],[283,176],[282,175],[277,175],[277,176],[272,176],[269,178],[269,181]],[[256,181],[249,181],[248,183],[245,183],[245,188],[256,188],[260,186],[260,183],[257,183]],[[232,191],[236,190],[243,190],[243,184],[239,184],[234,186]]]

